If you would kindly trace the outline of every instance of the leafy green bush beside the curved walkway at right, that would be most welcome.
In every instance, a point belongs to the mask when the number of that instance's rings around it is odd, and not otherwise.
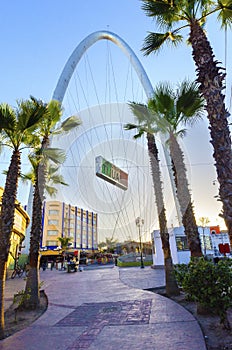
[[[227,310],[232,307],[232,260],[214,264],[204,258],[192,259],[187,265],[176,265],[175,274],[187,296],[212,309],[224,327],[230,329]]]

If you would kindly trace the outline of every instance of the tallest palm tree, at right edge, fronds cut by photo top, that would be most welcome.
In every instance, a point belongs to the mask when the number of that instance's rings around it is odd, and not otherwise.
[[[228,125],[229,112],[225,107],[225,73],[214,59],[212,47],[204,31],[209,15],[218,12],[222,27],[232,24],[231,0],[225,1],[164,1],[142,0],[142,9],[156,20],[158,28],[165,33],[149,33],[142,50],[146,55],[158,52],[164,42],[176,46],[183,39],[182,29],[190,28],[188,42],[196,64],[197,82],[206,100],[211,143],[219,182],[219,197],[222,201],[222,216],[225,220],[232,246],[232,154]],[[180,26],[177,27],[180,22]]]

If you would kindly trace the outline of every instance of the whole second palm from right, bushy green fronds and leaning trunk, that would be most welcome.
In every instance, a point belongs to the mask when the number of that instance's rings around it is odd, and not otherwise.
[[[154,95],[148,102],[148,108],[153,113],[155,127],[168,138],[167,144],[172,161],[176,194],[191,256],[202,256],[200,236],[188,188],[184,155],[177,139],[186,134],[186,129],[182,128],[183,125],[193,125],[202,117],[204,99],[200,96],[195,82],[183,81],[176,92],[169,83],[161,83],[154,90]]]

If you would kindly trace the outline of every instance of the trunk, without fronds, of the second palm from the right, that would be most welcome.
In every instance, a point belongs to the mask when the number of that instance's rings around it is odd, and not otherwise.
[[[202,256],[201,242],[188,188],[184,155],[176,140],[176,137],[173,134],[170,134],[169,147],[176,185],[176,193],[180,204],[182,223],[188,239],[189,249],[192,257],[199,257]]]

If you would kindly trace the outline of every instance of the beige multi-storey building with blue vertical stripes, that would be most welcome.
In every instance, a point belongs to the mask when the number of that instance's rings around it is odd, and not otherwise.
[[[44,202],[40,247],[58,248],[58,237],[69,237],[73,249],[97,249],[97,214],[59,201]]]

